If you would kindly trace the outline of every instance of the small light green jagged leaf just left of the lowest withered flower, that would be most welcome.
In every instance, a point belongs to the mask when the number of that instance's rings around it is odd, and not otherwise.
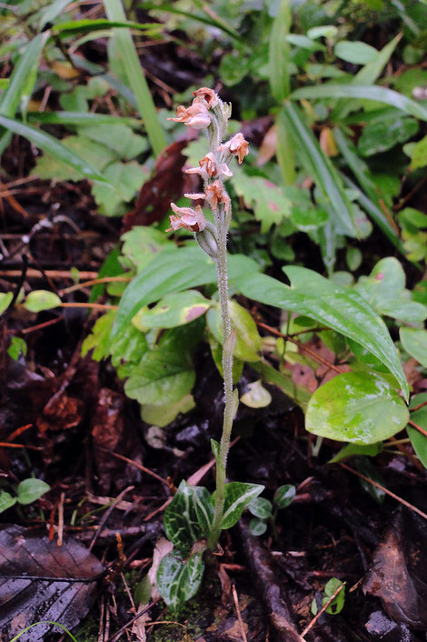
[[[134,226],[121,236],[124,242],[122,254],[130,261],[130,266],[141,272],[154,259],[154,256],[164,249],[171,249],[174,244],[164,232],[154,227]]]

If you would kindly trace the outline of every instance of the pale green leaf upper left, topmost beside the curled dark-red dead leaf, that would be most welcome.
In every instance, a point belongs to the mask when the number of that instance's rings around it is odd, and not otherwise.
[[[121,160],[132,160],[148,149],[148,141],[123,123],[82,126],[79,135],[111,149]],[[117,183],[121,180],[117,178]],[[114,185],[117,185],[114,183]]]

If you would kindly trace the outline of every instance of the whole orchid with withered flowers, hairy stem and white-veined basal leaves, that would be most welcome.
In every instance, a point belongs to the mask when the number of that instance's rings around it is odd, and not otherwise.
[[[218,277],[218,295],[223,331],[223,387],[224,411],[221,443],[212,439],[216,461],[216,489],[211,497],[204,487],[192,487],[181,482],[173,501],[164,515],[164,529],[174,544],[157,572],[157,587],[166,603],[180,607],[194,596],[204,574],[204,553],[214,553],[224,528],[233,527],[263,486],[241,482],[226,483],[226,463],[233,428],[233,418],[238,406],[237,390],[233,390],[233,347],[235,330],[230,319],[227,277],[227,236],[232,216],[231,199],[224,181],[233,176],[230,163],[236,157],[243,163],[248,154],[248,143],[242,134],[225,141],[231,105],[207,87],[194,92],[193,104],[180,105],[176,118],[195,129],[204,129],[209,142],[209,152],[199,161],[199,167],[186,169],[188,174],[198,174],[204,181],[204,191],[185,194],[192,200],[204,200],[212,209],[214,223],[206,220],[200,205],[178,207],[171,203],[173,215],[167,231],[184,228],[194,232],[199,246],[214,259]]]

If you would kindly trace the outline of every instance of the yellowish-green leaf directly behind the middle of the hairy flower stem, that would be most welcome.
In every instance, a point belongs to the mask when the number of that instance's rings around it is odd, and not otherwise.
[[[230,301],[232,328],[237,332],[234,355],[242,361],[259,361],[262,347],[261,336],[251,314],[235,301]],[[217,341],[223,343],[221,327],[221,309],[219,304],[211,307],[207,314],[207,323]]]

